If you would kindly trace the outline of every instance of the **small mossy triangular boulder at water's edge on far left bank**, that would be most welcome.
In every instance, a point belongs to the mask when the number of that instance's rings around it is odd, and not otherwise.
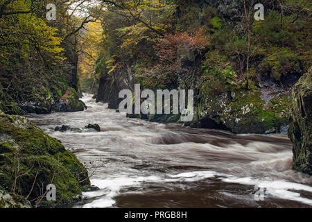
[[[58,112],[78,112],[85,110],[86,105],[80,101],[75,89],[68,87],[62,98],[55,103],[53,110]]]

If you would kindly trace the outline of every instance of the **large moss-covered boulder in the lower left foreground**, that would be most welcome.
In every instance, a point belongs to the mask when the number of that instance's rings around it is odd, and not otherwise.
[[[35,205],[46,191],[56,187],[55,202],[72,203],[89,185],[88,173],[75,155],[24,117],[0,111],[0,185]]]

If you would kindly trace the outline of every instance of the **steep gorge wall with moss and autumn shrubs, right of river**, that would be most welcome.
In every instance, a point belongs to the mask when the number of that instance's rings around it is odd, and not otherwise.
[[[252,21],[246,26],[243,1],[175,1],[176,8],[167,6],[171,17],[152,17],[167,21],[163,35],[105,12],[96,101],[118,109],[120,90],[134,92],[135,83],[154,92],[194,89],[195,115],[185,126],[286,135],[291,88],[311,66],[309,19],[292,22],[295,12],[289,12],[281,24],[278,6],[263,4],[264,21],[252,20],[253,5],[246,6]],[[180,114],[128,116],[180,122]]]

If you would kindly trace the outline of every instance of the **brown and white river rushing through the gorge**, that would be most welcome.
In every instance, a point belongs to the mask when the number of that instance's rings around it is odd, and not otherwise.
[[[84,112],[29,118],[87,165],[92,185],[67,207],[312,207],[284,135],[233,135],[128,119],[85,94]],[[63,124],[101,132],[54,132]],[[260,194],[260,196],[258,196]]]

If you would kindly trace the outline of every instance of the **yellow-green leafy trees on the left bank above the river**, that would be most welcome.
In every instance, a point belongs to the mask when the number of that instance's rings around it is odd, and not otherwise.
[[[46,1],[0,1],[0,79],[3,92],[21,101],[44,101],[78,92],[80,36],[101,15],[87,0],[52,0],[55,21],[46,19]],[[1,95],[2,96],[2,95]],[[52,96],[52,97],[53,97]]]

